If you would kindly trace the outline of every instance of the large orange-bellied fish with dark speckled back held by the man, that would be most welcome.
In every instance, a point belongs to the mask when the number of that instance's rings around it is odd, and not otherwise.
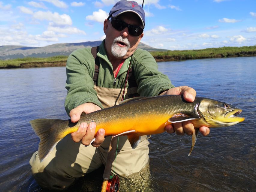
[[[190,155],[199,127],[235,125],[244,120],[236,116],[241,112],[233,105],[209,98],[196,97],[194,102],[186,102],[179,95],[161,95],[128,99],[119,105],[82,115],[77,123],[70,119],[35,119],[30,124],[40,138],[38,156],[42,161],[59,140],[77,131],[83,122],[95,122],[96,133],[104,128],[105,136],[127,135],[134,149],[142,135],[160,134],[168,124],[191,120],[196,129],[192,135]]]

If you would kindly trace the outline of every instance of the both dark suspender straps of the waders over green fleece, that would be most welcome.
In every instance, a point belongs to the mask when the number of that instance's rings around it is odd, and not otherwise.
[[[98,75],[99,75],[99,67],[100,67],[100,59],[97,56],[97,53],[99,52],[99,46],[92,47],[91,52],[92,52],[92,56],[95,59],[95,70],[94,70],[93,81],[94,81],[94,85],[97,85]],[[136,83],[135,76],[134,76],[133,67],[131,67],[131,69],[129,70],[128,84],[129,84],[129,88],[138,86]]]

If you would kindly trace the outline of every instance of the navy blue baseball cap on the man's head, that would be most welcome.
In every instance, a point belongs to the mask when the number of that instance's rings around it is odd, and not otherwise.
[[[125,12],[136,13],[142,21],[143,28],[145,27],[145,12],[143,8],[140,5],[138,5],[138,3],[135,1],[126,1],[126,0],[118,1],[110,10],[108,19],[111,16],[117,17],[120,14]]]

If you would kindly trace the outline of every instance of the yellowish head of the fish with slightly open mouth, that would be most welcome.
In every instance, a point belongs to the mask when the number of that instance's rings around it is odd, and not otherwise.
[[[243,117],[237,116],[241,109],[213,99],[203,99],[197,110],[208,127],[226,127],[244,121]]]

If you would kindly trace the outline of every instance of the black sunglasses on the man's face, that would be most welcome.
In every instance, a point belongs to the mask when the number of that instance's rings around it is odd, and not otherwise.
[[[114,17],[109,18],[111,25],[118,31],[122,31],[126,27],[128,27],[128,32],[130,35],[133,36],[140,36],[143,33],[143,29],[136,25],[129,25],[126,22],[122,21],[121,19],[117,19]]]

